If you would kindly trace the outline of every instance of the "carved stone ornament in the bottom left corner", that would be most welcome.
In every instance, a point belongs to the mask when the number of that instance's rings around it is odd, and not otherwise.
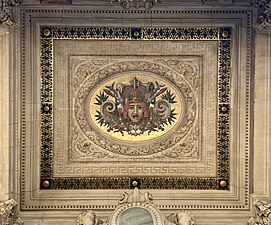
[[[22,219],[16,217],[16,206],[18,203],[14,199],[0,202],[0,224],[22,225]]]

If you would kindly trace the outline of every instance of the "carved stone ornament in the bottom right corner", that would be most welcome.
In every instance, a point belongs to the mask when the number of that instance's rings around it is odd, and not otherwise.
[[[256,210],[256,218],[251,217],[248,225],[269,225],[271,224],[271,204],[256,200],[253,205]]]

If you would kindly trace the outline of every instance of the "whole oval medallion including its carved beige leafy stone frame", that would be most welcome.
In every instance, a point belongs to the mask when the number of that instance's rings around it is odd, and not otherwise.
[[[93,73],[74,101],[78,127],[89,142],[125,156],[147,156],[175,146],[193,126],[195,109],[193,89],[183,76],[142,61]]]

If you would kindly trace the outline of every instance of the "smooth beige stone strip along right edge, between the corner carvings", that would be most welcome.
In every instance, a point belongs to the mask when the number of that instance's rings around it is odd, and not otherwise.
[[[256,33],[254,81],[254,195],[270,197],[271,30]]]

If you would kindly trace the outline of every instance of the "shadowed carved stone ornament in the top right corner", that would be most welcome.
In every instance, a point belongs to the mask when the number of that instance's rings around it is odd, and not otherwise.
[[[271,0],[256,0],[255,6],[258,8],[256,27],[260,30],[271,28]]]

